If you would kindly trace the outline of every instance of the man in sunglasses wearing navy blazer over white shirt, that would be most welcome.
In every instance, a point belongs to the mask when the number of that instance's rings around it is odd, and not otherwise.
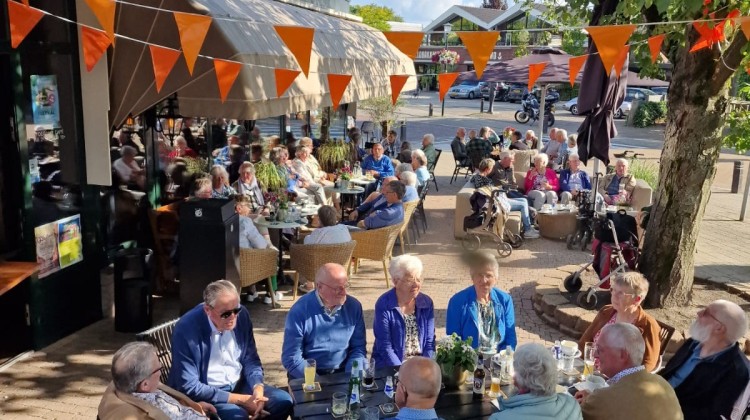
[[[285,419],[292,409],[289,394],[263,383],[250,314],[227,280],[206,286],[203,303],[175,325],[168,383],[221,419]]]

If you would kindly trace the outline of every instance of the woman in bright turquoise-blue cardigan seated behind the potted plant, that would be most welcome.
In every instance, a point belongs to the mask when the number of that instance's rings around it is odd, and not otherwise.
[[[506,346],[516,347],[516,319],[513,299],[495,287],[499,266],[495,256],[482,251],[471,258],[473,286],[448,301],[445,332],[462,339],[472,337],[472,347],[494,353]]]

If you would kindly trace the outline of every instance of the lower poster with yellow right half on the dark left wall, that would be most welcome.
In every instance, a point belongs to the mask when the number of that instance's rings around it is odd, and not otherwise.
[[[39,278],[83,261],[81,215],[34,228]]]

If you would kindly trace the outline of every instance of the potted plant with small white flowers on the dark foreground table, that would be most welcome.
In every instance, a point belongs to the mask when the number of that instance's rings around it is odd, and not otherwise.
[[[458,388],[466,378],[466,371],[474,370],[477,353],[471,342],[472,337],[461,340],[456,333],[438,340],[435,362],[440,365],[446,389]]]

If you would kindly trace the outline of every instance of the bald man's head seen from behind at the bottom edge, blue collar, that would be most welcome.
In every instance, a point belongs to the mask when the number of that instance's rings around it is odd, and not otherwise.
[[[437,419],[435,402],[440,394],[440,367],[434,360],[415,356],[398,370],[396,405],[398,420]]]

